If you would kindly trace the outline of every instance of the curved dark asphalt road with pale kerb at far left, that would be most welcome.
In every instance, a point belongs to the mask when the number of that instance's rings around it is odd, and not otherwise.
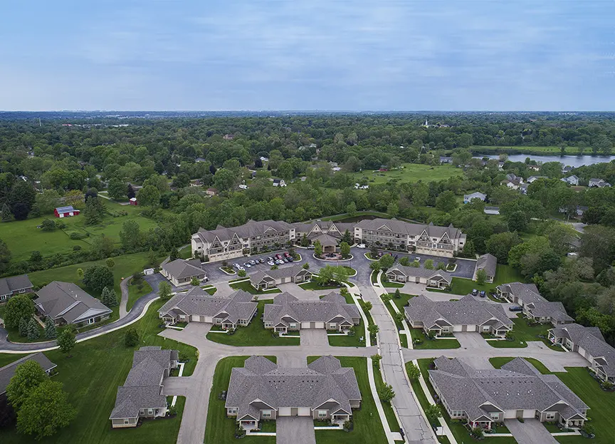
[[[149,285],[152,286],[152,289],[158,288],[158,283],[165,280],[161,274],[153,274],[152,276],[145,276],[144,279],[147,281]],[[92,329],[88,331],[84,331],[83,333],[79,333],[76,336],[77,341],[85,341],[86,339],[90,339],[95,336],[100,336],[100,334],[108,333],[109,331],[119,329],[123,326],[127,326],[135,322],[143,313],[144,308],[149,304],[149,301],[152,301],[158,297],[157,290],[152,291],[145,296],[137,299],[135,304],[132,306],[132,309],[126,314],[126,316],[118,319],[117,321],[111,322],[110,324],[106,324],[98,327],[97,329]],[[123,297],[122,297],[123,299]],[[16,343],[11,342],[7,338],[7,331],[5,329],[0,329],[0,353],[33,353],[35,351],[47,351],[51,349],[55,349],[58,344],[56,341],[44,341],[44,342],[32,342],[32,343]]]

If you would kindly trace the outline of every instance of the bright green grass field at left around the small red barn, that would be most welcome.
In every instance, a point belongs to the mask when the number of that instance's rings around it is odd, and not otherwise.
[[[59,220],[53,217],[53,215],[4,222],[2,224],[1,238],[11,250],[11,259],[13,261],[27,260],[31,252],[36,250],[40,251],[44,257],[48,257],[56,253],[71,252],[75,245],[83,249],[90,247],[90,239],[88,237],[81,240],[70,239],[70,233],[72,232],[84,235],[89,234],[90,236],[105,234],[119,244],[122,224],[128,220],[135,220],[144,231],[147,231],[150,227],[157,226],[154,220],[140,216],[140,209],[138,207],[119,205],[108,200],[102,200],[102,202],[109,212],[125,211],[128,215],[120,217],[107,215],[102,219],[100,225],[88,226],[85,225],[85,217],[83,217],[82,213],[75,217],[63,218],[62,222],[66,224],[66,227],[64,229],[56,229],[53,232],[43,232],[40,228],[36,228],[45,219]]]

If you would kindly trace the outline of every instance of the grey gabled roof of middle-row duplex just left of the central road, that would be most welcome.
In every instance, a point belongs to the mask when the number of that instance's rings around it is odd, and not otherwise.
[[[290,293],[280,293],[273,299],[273,304],[265,304],[263,321],[273,324],[285,324],[283,318],[290,316],[298,322],[328,322],[342,317],[350,324],[359,318],[359,309],[354,304],[347,304],[346,299],[334,291],[318,301],[300,301]],[[338,322],[339,323],[339,322]]]

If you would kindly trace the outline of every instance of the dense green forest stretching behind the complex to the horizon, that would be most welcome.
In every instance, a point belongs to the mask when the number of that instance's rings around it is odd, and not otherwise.
[[[427,125],[425,125],[427,120]],[[298,222],[360,211],[453,224],[463,254],[491,252],[584,324],[615,331],[615,162],[562,172],[473,158],[480,147],[611,154],[609,115],[285,115],[0,120],[0,274],[152,250],[174,252],[199,227]],[[496,151],[497,152],[497,151]],[[441,156],[451,165],[441,165]],[[544,178],[527,195],[508,174]],[[560,180],[575,174],[580,186]],[[273,187],[280,178],[287,187]],[[359,186],[357,186],[357,184]],[[239,185],[246,185],[240,189]],[[360,185],[367,185],[362,189]],[[216,195],[206,195],[208,187]],[[463,205],[480,191],[483,202]],[[138,207],[122,206],[136,197]],[[53,209],[82,215],[58,221]],[[579,234],[561,220],[589,224]],[[571,219],[571,220],[572,220]],[[41,240],[39,240],[41,239]],[[30,242],[28,242],[28,240]],[[566,259],[577,250],[579,259]]]

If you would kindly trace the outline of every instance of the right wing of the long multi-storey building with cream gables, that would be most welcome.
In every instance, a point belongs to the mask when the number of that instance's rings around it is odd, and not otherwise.
[[[393,246],[404,251],[453,257],[463,250],[466,234],[449,225],[411,224],[395,219],[362,220],[354,225],[357,244]]]

